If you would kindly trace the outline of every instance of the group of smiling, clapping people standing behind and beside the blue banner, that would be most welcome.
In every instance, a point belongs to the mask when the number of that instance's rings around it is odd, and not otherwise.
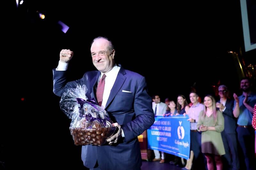
[[[155,109],[156,116],[188,115],[191,152],[183,169],[213,170],[216,166],[217,170],[221,170],[223,162],[228,169],[239,169],[238,147],[243,152],[240,160],[244,158],[246,169],[255,168],[255,132],[252,127],[252,116],[253,107],[256,107],[256,94],[251,91],[251,86],[251,79],[243,78],[240,82],[243,94],[238,97],[234,93],[234,99],[231,99],[228,96],[228,87],[220,85],[220,99],[216,102],[212,95],[206,95],[203,104],[198,102],[199,96],[196,92],[190,92],[191,107],[183,95],[178,96],[177,106],[171,100],[166,107],[160,102],[158,95],[152,97],[152,108]],[[169,109],[166,111],[164,109],[167,106]],[[157,107],[162,110],[156,109]],[[160,160],[160,163],[164,163],[164,153],[162,152],[161,159],[158,151],[154,153],[156,157],[153,161]]]

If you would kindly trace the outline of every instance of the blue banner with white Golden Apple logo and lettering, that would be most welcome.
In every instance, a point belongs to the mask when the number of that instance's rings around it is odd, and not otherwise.
[[[190,123],[187,116],[157,116],[147,130],[148,149],[163,151],[188,159],[190,154]]]

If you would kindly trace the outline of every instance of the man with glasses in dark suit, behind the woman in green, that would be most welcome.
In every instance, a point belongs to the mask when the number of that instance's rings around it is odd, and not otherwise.
[[[234,100],[228,98],[228,88],[226,85],[219,86],[220,100],[217,101],[216,107],[223,112],[224,130],[221,132],[222,141],[225,148],[224,169],[239,169],[239,158],[237,152],[236,137],[236,118],[233,115]],[[228,166],[228,167],[225,167]]]

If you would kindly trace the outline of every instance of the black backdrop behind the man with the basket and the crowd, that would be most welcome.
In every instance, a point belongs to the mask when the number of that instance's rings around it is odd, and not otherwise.
[[[176,100],[179,94],[189,100],[195,83],[200,96],[213,94],[219,80],[240,95],[237,65],[228,51],[237,52],[246,66],[255,64],[256,51],[244,52],[238,0],[168,5],[24,1],[18,8],[14,3],[6,15],[11,16],[6,41],[11,48],[5,63],[15,72],[7,75],[15,104],[11,102],[6,113],[12,114],[2,119],[6,140],[1,159],[8,168],[83,167],[81,147],[73,144],[68,129],[70,120],[52,92],[52,69],[61,49],[74,51],[69,80],[79,79],[95,70],[93,38],[108,37],[118,63],[145,76],[149,94],[159,94],[162,101]],[[67,33],[61,32],[59,20],[70,27]],[[6,128],[10,122],[12,132]]]

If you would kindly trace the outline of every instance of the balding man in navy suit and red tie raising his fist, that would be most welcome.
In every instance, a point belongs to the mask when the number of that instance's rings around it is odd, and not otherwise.
[[[95,38],[91,54],[92,63],[98,71],[88,71],[79,80],[66,81],[68,62],[73,57],[70,50],[61,50],[59,65],[53,70],[53,92],[58,96],[67,88],[76,88],[80,84],[88,88],[88,98],[98,100],[97,85],[103,76],[106,77],[102,103],[98,103],[108,112],[118,131],[107,140],[107,145],[82,147],[84,166],[100,170],[140,169],[141,155],[137,136],[155,121],[145,78],[115,63],[115,49],[107,38]]]

